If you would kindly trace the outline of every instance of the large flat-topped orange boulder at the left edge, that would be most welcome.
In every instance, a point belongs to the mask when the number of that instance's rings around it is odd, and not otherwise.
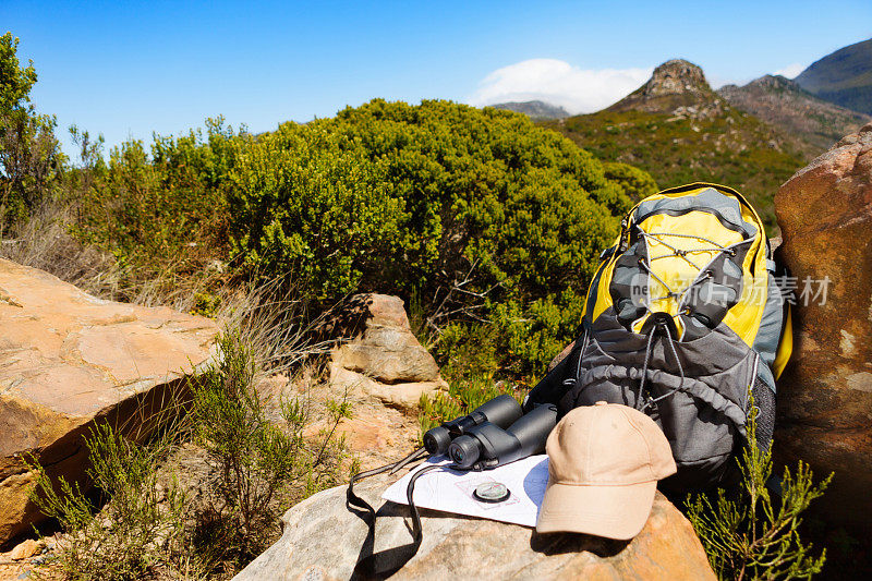
[[[95,422],[146,437],[217,332],[205,318],[96,299],[4,259],[0,329],[0,545],[41,518],[25,459],[81,481]]]

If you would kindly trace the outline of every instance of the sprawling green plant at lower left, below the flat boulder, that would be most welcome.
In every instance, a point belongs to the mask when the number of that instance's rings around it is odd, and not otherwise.
[[[66,533],[51,561],[64,579],[138,579],[157,569],[179,570],[183,556],[187,497],[174,480],[159,485],[156,463],[164,446],[140,446],[109,424],[96,425],[85,438],[87,476],[110,498],[99,503],[62,476],[58,489],[45,469],[31,498]],[[183,566],[183,568],[186,568]]]

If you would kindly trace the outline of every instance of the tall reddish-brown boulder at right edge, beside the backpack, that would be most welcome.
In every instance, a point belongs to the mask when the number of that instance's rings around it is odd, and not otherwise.
[[[794,356],[778,388],[776,451],[835,479],[828,519],[868,526],[872,515],[872,123],[798,171],[775,197],[797,277],[828,279],[794,310]],[[815,282],[813,291],[822,287]]]

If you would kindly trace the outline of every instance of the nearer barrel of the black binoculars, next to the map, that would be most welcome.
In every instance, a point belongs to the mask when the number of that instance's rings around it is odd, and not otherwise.
[[[555,425],[557,407],[542,404],[506,429],[489,422],[467,429],[448,447],[448,456],[461,469],[508,464],[545,451],[545,441]]]

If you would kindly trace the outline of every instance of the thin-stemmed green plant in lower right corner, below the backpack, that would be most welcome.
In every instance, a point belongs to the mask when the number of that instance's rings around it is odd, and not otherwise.
[[[688,500],[688,518],[702,541],[719,579],[811,579],[821,572],[826,549],[812,555],[800,538],[801,515],[829,484],[829,474],[816,485],[808,464],[799,462],[796,475],[785,467],[780,495],[766,487],[772,474],[772,450],[755,444],[756,423],[749,426],[749,444],[739,461],[742,482],[737,496],[720,488],[713,503],[699,495]]]

